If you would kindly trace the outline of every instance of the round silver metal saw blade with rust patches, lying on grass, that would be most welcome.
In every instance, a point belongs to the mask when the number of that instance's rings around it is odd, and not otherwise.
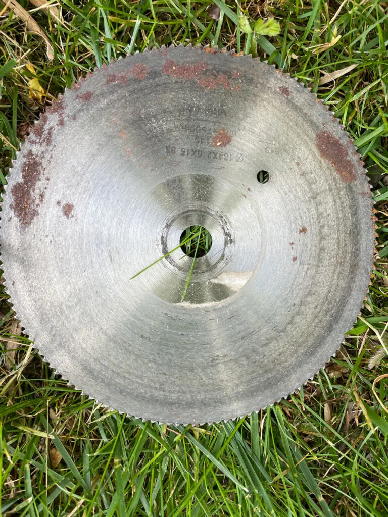
[[[179,47],[96,70],[41,116],[9,176],[1,253],[26,333],[71,384],[203,423],[324,366],[362,306],[373,219],[352,142],[302,84]],[[191,225],[212,237],[194,264]]]

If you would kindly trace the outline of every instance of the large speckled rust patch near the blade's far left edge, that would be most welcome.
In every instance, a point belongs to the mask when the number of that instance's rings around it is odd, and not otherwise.
[[[40,158],[29,150],[22,165],[22,180],[11,188],[13,213],[22,226],[29,226],[39,214],[38,208],[44,200],[44,193],[35,193],[36,185],[44,172]]]

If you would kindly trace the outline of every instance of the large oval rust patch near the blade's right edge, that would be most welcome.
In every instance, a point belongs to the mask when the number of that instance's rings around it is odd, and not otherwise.
[[[333,165],[342,181],[352,183],[357,179],[357,170],[348,158],[348,149],[338,138],[323,131],[317,134],[316,145],[321,157]]]

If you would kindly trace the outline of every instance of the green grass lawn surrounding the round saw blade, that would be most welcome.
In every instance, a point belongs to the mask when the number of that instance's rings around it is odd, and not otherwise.
[[[54,58],[0,7],[3,184],[29,125],[87,71],[162,44],[211,44],[282,66],[335,111],[365,161],[378,238],[369,294],[336,358],[287,401],[200,428],[126,419],[67,386],[20,336],[3,290],[2,514],[386,515],[388,393],[375,379],[388,364],[387,4],[58,0],[59,21],[21,4]],[[279,35],[243,33],[240,13],[251,24],[275,17]]]

